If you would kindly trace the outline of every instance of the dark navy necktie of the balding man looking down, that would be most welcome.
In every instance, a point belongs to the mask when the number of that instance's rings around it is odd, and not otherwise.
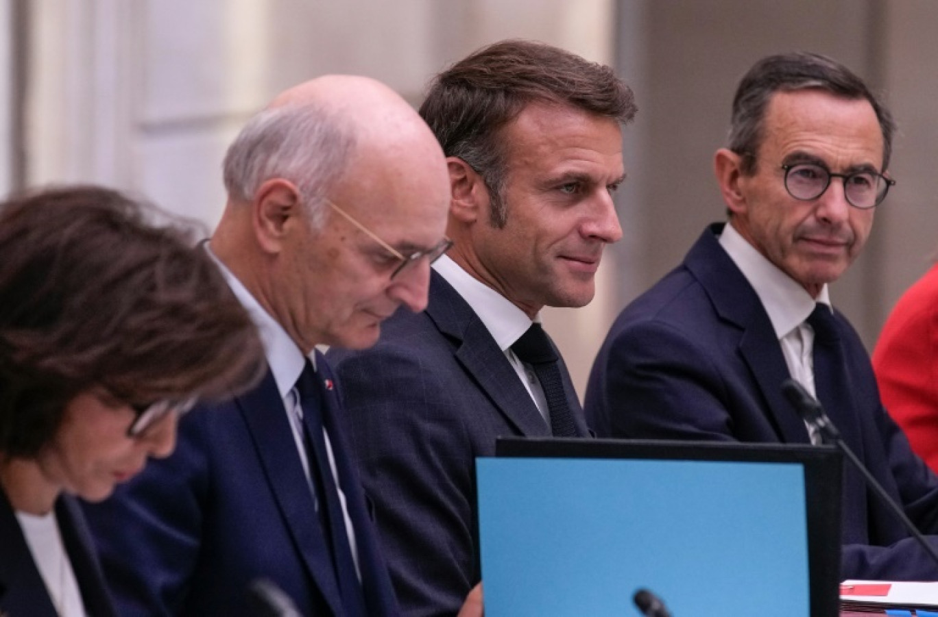
[[[332,466],[329,464],[325,448],[323,388],[322,380],[316,375],[310,360],[307,360],[303,373],[296,381],[296,391],[299,394],[300,406],[303,408],[303,431],[308,442],[310,478],[317,487],[319,498],[319,521],[325,525],[324,535],[332,553],[332,565],[336,572],[342,599],[342,614],[364,617],[366,614],[365,596],[361,583],[358,581],[352,547],[345,528],[339,489],[336,486],[335,477],[332,476]]]

